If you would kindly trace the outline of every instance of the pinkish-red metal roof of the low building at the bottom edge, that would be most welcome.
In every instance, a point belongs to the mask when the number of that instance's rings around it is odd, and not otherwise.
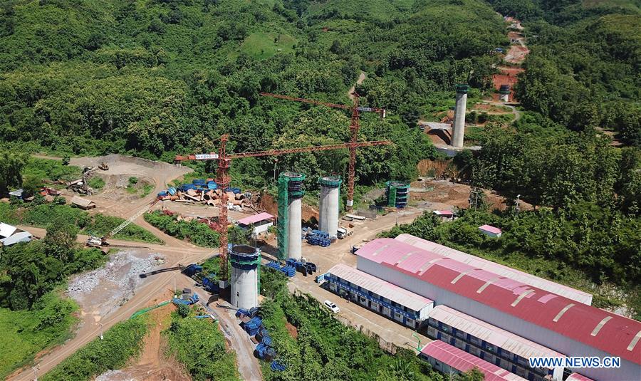
[[[441,340],[434,340],[427,343],[427,345],[425,345],[421,350],[421,353],[440,362],[444,362],[460,372],[467,372],[468,370],[476,367],[485,375],[485,381],[526,380],[523,377],[519,377],[514,373],[504,370],[501,367],[491,364],[480,357],[471,355],[470,353],[460,350],[459,348],[449,345]]]

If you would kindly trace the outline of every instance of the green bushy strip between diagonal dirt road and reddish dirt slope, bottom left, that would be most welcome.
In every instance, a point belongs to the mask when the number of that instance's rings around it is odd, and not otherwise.
[[[47,372],[43,381],[87,381],[107,370],[120,369],[142,351],[149,323],[145,316],[115,324],[103,337],[95,338],[78,352]]]

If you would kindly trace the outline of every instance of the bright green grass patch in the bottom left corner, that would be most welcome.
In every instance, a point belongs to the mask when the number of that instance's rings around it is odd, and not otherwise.
[[[32,310],[0,308],[0,379],[31,362],[42,350],[67,340],[77,309],[58,291],[46,293]]]

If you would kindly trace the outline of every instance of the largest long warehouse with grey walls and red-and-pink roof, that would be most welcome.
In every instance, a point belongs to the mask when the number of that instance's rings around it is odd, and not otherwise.
[[[641,323],[636,320],[396,239],[375,239],[356,254],[360,271],[568,357],[621,359],[617,369],[568,370],[595,380],[638,380],[641,375]]]

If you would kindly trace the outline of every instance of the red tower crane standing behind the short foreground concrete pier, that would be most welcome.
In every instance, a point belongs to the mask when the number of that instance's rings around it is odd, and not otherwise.
[[[220,233],[220,280],[223,286],[226,288],[227,280],[227,192],[226,189],[229,187],[231,178],[229,177],[229,167],[231,166],[231,160],[240,159],[242,157],[260,157],[260,156],[276,156],[276,155],[285,155],[290,153],[298,152],[312,152],[312,151],[326,151],[326,150],[340,150],[342,148],[352,147],[370,147],[372,145],[390,145],[392,142],[390,140],[377,140],[373,142],[356,142],[356,143],[343,143],[335,145],[320,145],[315,147],[301,147],[301,148],[286,148],[283,150],[266,150],[266,151],[254,151],[254,152],[242,152],[228,154],[226,152],[226,144],[229,141],[229,135],[222,135],[220,137],[220,147],[218,153],[211,152],[205,154],[191,154],[191,155],[176,155],[174,161],[181,162],[185,160],[217,160],[218,169],[216,183],[218,187],[222,190],[220,193],[220,204],[219,204],[219,214],[218,214],[218,224],[215,225],[215,230]]]

